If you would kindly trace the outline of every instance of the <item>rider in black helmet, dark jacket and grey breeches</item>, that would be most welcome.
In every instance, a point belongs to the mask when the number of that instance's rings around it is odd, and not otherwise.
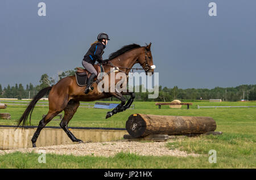
[[[104,53],[104,49],[108,44],[109,36],[102,32],[98,35],[97,41],[91,44],[90,49],[84,55],[84,59],[82,59],[82,66],[90,72],[90,78],[88,79],[87,86],[85,88],[84,93],[87,94],[90,91],[90,85],[93,83],[93,79],[97,76],[97,71],[93,67],[96,61],[102,62],[102,54]]]

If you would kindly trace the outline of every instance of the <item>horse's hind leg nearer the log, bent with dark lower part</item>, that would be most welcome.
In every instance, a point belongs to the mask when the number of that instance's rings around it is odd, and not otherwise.
[[[68,105],[64,109],[64,117],[60,122],[60,127],[67,133],[68,137],[72,140],[72,142],[82,143],[82,140],[77,139],[71,131],[68,130],[68,123],[72,119],[73,115],[76,113],[77,108],[79,107],[79,101],[70,100]]]

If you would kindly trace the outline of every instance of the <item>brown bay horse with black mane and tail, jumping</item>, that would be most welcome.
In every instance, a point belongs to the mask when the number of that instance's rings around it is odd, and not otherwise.
[[[133,66],[136,63],[139,63],[146,74],[148,72],[153,74],[155,65],[153,64],[150,47],[151,42],[149,45],[146,44],[146,46],[140,46],[138,44],[123,46],[121,49],[117,50],[117,52],[110,54],[108,61],[104,61],[105,63],[102,65],[104,67],[104,71],[109,73],[111,70],[113,70],[114,67],[128,75]],[[36,147],[36,140],[38,139],[40,131],[47,125],[48,122],[52,120],[53,117],[55,117],[63,110],[64,117],[60,122],[60,127],[63,128],[72,142],[83,143],[82,140],[77,139],[75,135],[73,135],[72,132],[68,130],[68,123],[76,113],[77,108],[79,108],[80,101],[95,101],[109,97],[118,98],[118,100],[121,100],[121,103],[111,112],[106,114],[106,118],[109,118],[118,112],[122,112],[123,110],[128,109],[135,98],[135,94],[133,92],[101,92],[95,88],[96,85],[97,83],[93,83],[92,88],[94,91],[90,91],[87,95],[85,95],[85,87],[77,85],[75,76],[68,76],[59,80],[59,82],[57,82],[52,87],[43,88],[37,95],[35,95],[30,104],[28,104],[26,110],[22,114],[22,117],[18,119],[17,128],[19,127],[20,123],[22,123],[22,128],[27,125],[29,114],[31,123],[31,114],[36,105],[36,102],[38,102],[40,98],[49,93],[49,110],[47,115],[44,116],[43,119],[41,119],[39,122],[39,125],[34,135],[32,136],[32,147]],[[111,87],[109,86],[109,88]],[[123,97],[124,95],[130,95],[127,103],[125,97]]]

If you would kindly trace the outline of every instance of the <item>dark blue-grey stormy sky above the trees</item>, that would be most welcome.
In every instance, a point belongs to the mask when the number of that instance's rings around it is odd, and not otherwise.
[[[46,16],[38,16],[38,3]],[[217,16],[208,15],[216,2]],[[179,88],[256,84],[256,1],[0,1],[0,84],[81,66],[107,32],[104,58],[123,45],[152,42],[159,84]]]

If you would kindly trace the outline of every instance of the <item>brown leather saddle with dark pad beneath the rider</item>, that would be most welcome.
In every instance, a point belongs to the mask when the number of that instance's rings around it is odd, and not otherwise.
[[[96,69],[97,73],[100,74],[101,72],[104,72],[104,68],[100,66],[100,64],[93,65]],[[79,86],[85,86],[87,85],[87,79],[90,77],[90,72],[88,72],[85,68],[77,67],[77,71],[75,73],[76,76],[76,83]],[[94,79],[94,81],[97,80],[97,77]]]

